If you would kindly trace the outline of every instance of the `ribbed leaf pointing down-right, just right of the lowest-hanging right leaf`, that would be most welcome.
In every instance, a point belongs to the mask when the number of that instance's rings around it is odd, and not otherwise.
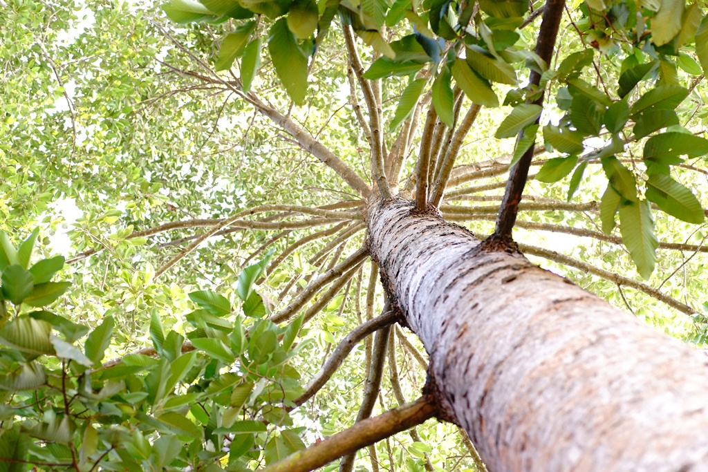
[[[688,223],[700,224],[705,214],[700,202],[684,185],[663,173],[649,175],[646,198],[670,214]]]

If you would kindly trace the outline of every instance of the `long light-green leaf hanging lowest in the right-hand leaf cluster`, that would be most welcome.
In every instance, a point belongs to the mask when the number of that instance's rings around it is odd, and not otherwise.
[[[649,201],[624,200],[619,205],[619,232],[639,275],[649,279],[656,263],[654,251],[658,247]]]

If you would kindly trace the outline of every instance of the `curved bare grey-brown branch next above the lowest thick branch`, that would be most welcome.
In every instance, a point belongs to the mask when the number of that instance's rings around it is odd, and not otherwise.
[[[299,406],[307,402],[320,390],[320,388],[322,388],[322,386],[324,386],[324,384],[327,383],[327,381],[329,381],[332,374],[334,374],[339,366],[341,366],[344,359],[347,358],[351,350],[360,342],[360,340],[366,338],[368,335],[383,328],[384,326],[389,326],[395,322],[396,315],[394,312],[387,311],[386,313],[382,313],[381,316],[365,321],[365,323],[362,323],[351,330],[350,333],[339,342],[337,347],[335,347],[332,355],[326,360],[319,372],[312,377],[312,380],[307,382],[304,393],[295,398],[293,403],[295,403],[296,406]]]

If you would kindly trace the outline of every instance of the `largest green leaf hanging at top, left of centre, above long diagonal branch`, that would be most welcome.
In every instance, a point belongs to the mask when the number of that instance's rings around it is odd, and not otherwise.
[[[295,35],[287,28],[285,18],[280,18],[270,28],[268,51],[273,59],[275,74],[287,94],[297,105],[302,105],[307,96],[307,56],[297,45]]]

